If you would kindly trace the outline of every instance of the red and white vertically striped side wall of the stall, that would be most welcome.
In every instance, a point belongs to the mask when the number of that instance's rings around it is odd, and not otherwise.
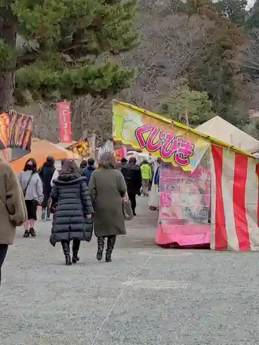
[[[211,146],[211,249],[259,250],[258,163]]]

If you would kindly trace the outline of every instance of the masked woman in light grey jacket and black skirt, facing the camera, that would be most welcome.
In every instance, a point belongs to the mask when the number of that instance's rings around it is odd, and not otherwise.
[[[44,199],[41,178],[37,174],[37,164],[35,159],[28,159],[23,171],[18,175],[21,189],[26,203],[28,221],[24,223],[23,237],[35,237],[35,221],[37,221],[37,207]]]

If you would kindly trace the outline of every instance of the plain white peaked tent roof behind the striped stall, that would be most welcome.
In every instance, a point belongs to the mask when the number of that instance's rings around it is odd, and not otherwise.
[[[254,146],[259,146],[259,141],[257,139],[229,124],[228,121],[219,116],[215,116],[213,119],[210,119],[204,124],[198,126],[196,130],[224,141],[229,145],[241,148],[242,150],[248,150]]]

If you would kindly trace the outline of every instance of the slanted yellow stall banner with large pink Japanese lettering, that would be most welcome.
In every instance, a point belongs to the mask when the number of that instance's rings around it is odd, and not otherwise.
[[[173,126],[170,119],[117,101],[113,104],[113,139],[187,171],[198,166],[210,146],[188,130]]]

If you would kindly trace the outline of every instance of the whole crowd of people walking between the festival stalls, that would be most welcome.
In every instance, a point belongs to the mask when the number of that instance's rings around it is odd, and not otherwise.
[[[153,170],[148,161],[137,165],[135,157],[123,158],[119,166],[113,154],[102,155],[99,167],[95,160],[82,161],[80,167],[71,159],[47,157],[37,169],[35,159],[28,159],[18,177],[12,168],[0,161],[0,284],[1,266],[8,246],[14,242],[15,228],[24,226],[23,237],[35,237],[37,208],[41,219],[50,220],[50,243],[61,242],[66,265],[79,261],[81,241],[97,237],[97,259],[102,260],[106,243],[106,262],[111,262],[117,235],[126,234],[123,201],[129,199],[136,215],[136,195],[148,196]],[[70,242],[72,258],[70,255]]]

